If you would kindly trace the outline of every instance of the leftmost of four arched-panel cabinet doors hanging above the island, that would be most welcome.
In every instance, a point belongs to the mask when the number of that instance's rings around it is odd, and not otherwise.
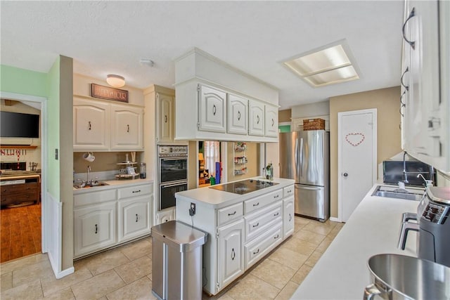
[[[199,85],[199,130],[225,132],[226,93]]]

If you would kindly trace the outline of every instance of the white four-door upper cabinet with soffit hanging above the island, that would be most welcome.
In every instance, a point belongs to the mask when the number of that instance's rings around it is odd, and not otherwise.
[[[278,142],[274,87],[198,48],[175,60],[175,80],[175,140]]]

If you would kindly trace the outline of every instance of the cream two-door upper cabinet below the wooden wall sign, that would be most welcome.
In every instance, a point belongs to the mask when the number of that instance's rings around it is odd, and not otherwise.
[[[74,151],[143,150],[143,109],[101,100],[73,99]]]

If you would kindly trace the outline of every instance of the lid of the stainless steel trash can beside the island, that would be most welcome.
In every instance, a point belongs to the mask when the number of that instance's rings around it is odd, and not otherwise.
[[[152,238],[165,242],[169,247],[179,247],[188,252],[207,241],[207,233],[181,221],[169,221],[152,227]]]

